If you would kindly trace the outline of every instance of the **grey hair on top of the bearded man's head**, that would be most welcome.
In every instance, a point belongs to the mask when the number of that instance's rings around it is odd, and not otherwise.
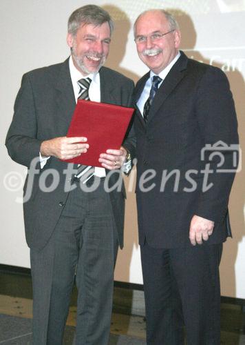
[[[110,32],[114,30],[114,23],[107,11],[96,5],[86,5],[78,8],[70,15],[70,18],[68,19],[68,33],[75,37],[81,24],[101,26],[103,23],[109,24]]]

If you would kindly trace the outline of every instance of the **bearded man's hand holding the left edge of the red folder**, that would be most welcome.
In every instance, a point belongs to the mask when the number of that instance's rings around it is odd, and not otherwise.
[[[58,137],[45,140],[41,144],[42,157],[54,156],[59,159],[72,159],[87,152],[89,144],[81,144],[87,141],[85,137]]]

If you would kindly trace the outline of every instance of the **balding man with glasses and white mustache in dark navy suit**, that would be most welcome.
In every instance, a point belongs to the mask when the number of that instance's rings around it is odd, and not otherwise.
[[[168,12],[143,12],[134,34],[150,69],[136,85],[134,121],[147,344],[184,344],[184,324],[188,345],[218,345],[238,142],[233,98],[220,69],[178,50],[180,30]]]

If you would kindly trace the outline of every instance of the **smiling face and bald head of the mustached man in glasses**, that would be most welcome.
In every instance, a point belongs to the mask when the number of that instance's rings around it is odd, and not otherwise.
[[[135,37],[138,56],[157,75],[178,54],[180,31],[169,31],[171,28],[164,13],[157,10],[142,14],[136,23]],[[169,33],[165,34],[166,32]],[[161,34],[165,35],[159,36]],[[138,41],[137,37],[147,37],[147,39]]]

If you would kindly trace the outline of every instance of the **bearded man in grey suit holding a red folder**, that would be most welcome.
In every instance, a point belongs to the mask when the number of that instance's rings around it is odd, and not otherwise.
[[[36,345],[62,344],[75,276],[76,344],[103,345],[109,338],[125,204],[124,186],[116,190],[113,185],[121,167],[127,172],[134,139],[129,134],[120,150],[102,152],[104,168],[88,168],[93,174],[86,179],[78,174],[81,166],[61,159],[89,150],[85,137],[65,137],[79,97],[131,106],[133,81],[103,67],[112,29],[102,8],[75,10],[68,21],[70,58],[26,73],[14,105],[6,146],[14,161],[29,168],[23,209]],[[116,172],[109,178],[109,193],[103,188],[108,170]],[[93,179],[98,188],[93,188]]]

